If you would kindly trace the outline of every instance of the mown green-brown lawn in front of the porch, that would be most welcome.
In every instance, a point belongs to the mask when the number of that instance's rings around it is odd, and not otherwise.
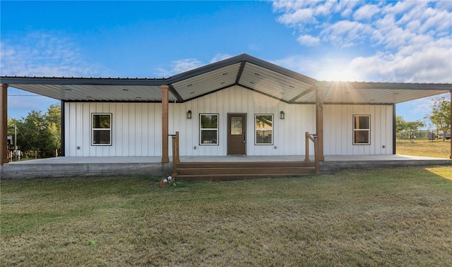
[[[1,181],[1,266],[451,266],[452,168]]]

